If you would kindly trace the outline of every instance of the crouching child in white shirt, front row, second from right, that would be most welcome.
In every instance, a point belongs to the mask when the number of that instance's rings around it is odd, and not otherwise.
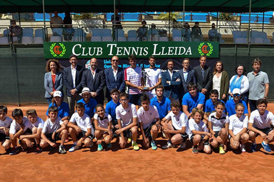
[[[240,146],[242,152],[246,152],[244,144],[249,140],[248,117],[244,115],[244,105],[238,103],[235,106],[236,114],[229,116],[229,142],[230,146],[236,150]]]

